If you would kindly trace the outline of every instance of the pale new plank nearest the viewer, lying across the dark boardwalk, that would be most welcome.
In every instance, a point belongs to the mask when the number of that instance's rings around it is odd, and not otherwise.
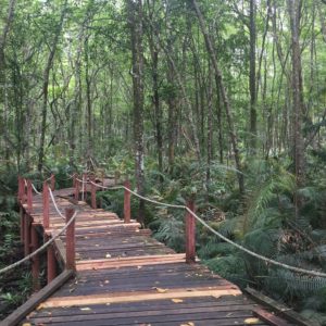
[[[188,291],[187,289],[173,289],[164,293],[151,292],[118,292],[118,293],[101,293],[93,296],[75,296],[75,297],[59,297],[50,298],[42,303],[42,308],[58,308],[72,305],[91,305],[91,304],[106,304],[117,302],[135,302],[148,300],[162,300],[174,298],[196,298],[196,297],[215,297],[222,296],[240,296],[242,292],[239,289],[215,289],[208,288],[196,289]]]

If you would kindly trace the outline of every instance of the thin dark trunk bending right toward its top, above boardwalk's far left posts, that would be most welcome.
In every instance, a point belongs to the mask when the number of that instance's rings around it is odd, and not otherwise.
[[[39,143],[39,152],[38,152],[38,171],[41,172],[43,168],[43,160],[45,160],[45,142],[46,142],[46,131],[47,131],[47,115],[48,115],[48,88],[49,88],[49,77],[50,71],[53,64],[54,54],[57,51],[57,46],[59,42],[60,34],[62,30],[65,13],[66,13],[67,0],[64,1],[59,24],[57,26],[52,48],[50,50],[47,65],[43,72],[43,85],[42,85],[42,118],[41,118],[41,135],[40,135],[40,143]]]

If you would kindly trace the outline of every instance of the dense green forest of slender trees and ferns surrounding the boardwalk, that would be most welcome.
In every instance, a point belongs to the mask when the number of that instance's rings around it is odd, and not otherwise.
[[[255,252],[325,268],[325,126],[324,0],[0,0],[1,193],[17,174],[99,170],[140,195],[195,198]],[[183,250],[178,213],[134,204]],[[323,279],[201,229],[198,249],[241,286],[325,310]]]

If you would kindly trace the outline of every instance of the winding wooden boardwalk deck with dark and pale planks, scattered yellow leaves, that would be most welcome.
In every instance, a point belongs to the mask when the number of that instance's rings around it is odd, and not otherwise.
[[[61,211],[72,205],[72,193],[73,188],[54,191]],[[35,195],[33,202],[33,224],[41,225],[41,196]],[[203,265],[186,264],[185,254],[151,238],[137,222],[124,224],[116,214],[85,202],[73,205],[78,211],[75,276],[22,325],[251,325],[249,318],[255,318],[254,325],[294,325],[267,313]],[[63,226],[50,205],[48,233]],[[54,247],[64,263],[65,237]]]

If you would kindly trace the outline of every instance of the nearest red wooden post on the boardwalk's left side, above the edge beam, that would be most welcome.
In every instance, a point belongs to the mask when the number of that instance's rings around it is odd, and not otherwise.
[[[73,217],[75,211],[74,209],[65,209],[65,223],[68,223]],[[76,260],[75,260],[75,221],[66,229],[65,235],[65,249],[66,249],[66,269],[76,269]]]

